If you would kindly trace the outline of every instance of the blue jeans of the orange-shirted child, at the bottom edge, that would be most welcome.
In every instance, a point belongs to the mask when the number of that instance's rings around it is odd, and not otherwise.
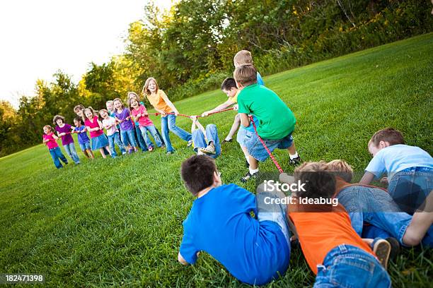
[[[370,253],[351,245],[339,245],[317,265],[314,287],[391,287],[391,278]]]

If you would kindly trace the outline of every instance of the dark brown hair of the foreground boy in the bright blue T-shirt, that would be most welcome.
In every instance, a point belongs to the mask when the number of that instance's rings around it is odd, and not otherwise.
[[[206,155],[194,155],[182,163],[180,176],[185,187],[197,196],[197,193],[214,183],[214,172],[217,172],[215,160]]]

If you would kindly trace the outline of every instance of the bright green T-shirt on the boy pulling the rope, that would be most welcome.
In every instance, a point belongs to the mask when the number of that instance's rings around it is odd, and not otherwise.
[[[239,113],[254,114],[258,120],[258,134],[269,140],[279,140],[294,131],[293,112],[272,90],[265,86],[248,85],[238,95]]]

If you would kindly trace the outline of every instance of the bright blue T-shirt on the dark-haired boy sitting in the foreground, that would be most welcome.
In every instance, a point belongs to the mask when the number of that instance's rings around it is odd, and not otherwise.
[[[231,274],[249,284],[264,284],[289,265],[289,246],[278,224],[258,222],[253,193],[234,184],[213,188],[197,198],[183,222],[180,254],[195,263],[206,251]]]

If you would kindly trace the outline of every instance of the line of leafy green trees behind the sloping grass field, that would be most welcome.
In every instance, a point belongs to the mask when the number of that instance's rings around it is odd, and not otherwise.
[[[154,4],[130,23],[124,54],[91,63],[79,83],[62,71],[37,80],[18,110],[0,101],[0,156],[40,143],[42,126],[73,107],[105,107],[140,92],[152,76],[171,100],[217,88],[233,56],[253,54],[269,75],[433,30],[429,0],[180,0],[162,13]]]

